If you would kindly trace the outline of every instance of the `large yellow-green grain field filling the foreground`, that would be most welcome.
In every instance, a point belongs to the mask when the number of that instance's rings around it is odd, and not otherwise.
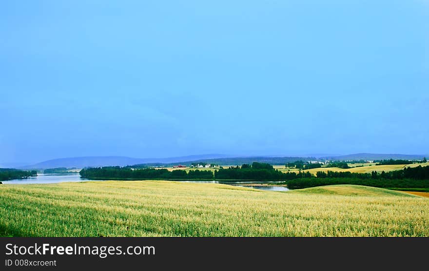
[[[354,185],[270,192],[222,184],[0,185],[7,236],[429,236],[429,198]]]

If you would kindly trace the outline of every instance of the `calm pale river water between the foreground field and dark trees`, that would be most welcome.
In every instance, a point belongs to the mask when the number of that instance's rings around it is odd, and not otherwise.
[[[81,178],[80,174],[43,174],[39,173],[36,177],[31,177],[28,179],[19,179],[19,180],[10,180],[2,181],[3,184],[43,184],[43,183],[62,183],[62,182],[81,182],[81,181],[90,181],[85,178]],[[258,181],[247,181],[247,182],[219,182],[219,181],[183,181],[183,182],[192,182],[192,183],[223,183],[239,187],[248,187],[260,190],[269,190],[269,191],[288,191],[287,187],[282,186],[243,186],[240,184],[244,183],[261,183]]]

